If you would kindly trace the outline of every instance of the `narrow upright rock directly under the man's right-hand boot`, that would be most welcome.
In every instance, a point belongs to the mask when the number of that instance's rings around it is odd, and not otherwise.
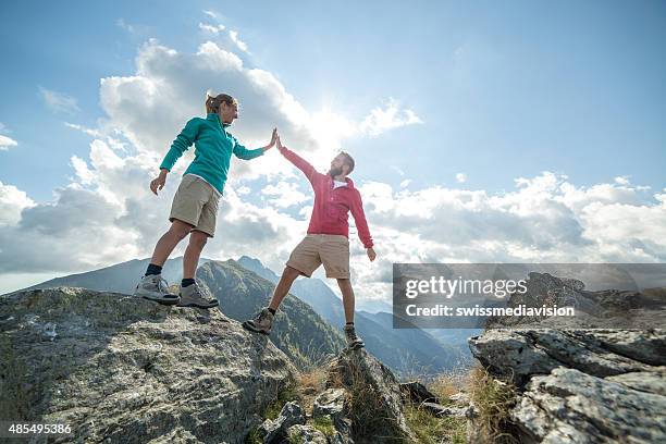
[[[403,415],[403,398],[395,375],[363,348],[343,350],[330,367],[326,385],[349,391],[355,441],[416,442]]]

